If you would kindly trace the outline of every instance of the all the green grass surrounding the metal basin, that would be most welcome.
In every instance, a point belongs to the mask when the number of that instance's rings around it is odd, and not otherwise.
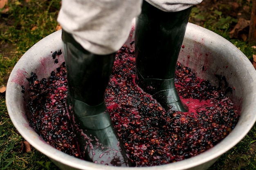
[[[250,6],[247,0],[237,2]],[[0,86],[6,85],[11,69],[22,54],[56,31],[60,6],[60,0],[9,0],[9,11],[1,14],[0,18],[0,45],[1,48],[7,47],[6,50],[0,49],[3,51],[0,53]],[[254,44],[229,38],[229,31],[238,22],[229,16],[231,10],[224,4],[218,9],[211,7],[205,11],[194,7],[190,22],[226,38],[252,61],[252,55],[256,54],[256,50],[251,47]],[[21,141],[24,141],[23,137],[9,119],[5,97],[0,95],[0,170],[58,170],[52,161],[34,148],[29,153],[20,151]],[[234,148],[222,155],[210,170],[256,170],[255,151],[256,126]]]

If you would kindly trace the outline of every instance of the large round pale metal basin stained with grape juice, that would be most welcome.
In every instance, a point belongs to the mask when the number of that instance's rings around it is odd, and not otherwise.
[[[134,40],[134,25],[127,40]],[[29,126],[26,117],[27,93],[21,93],[29,83],[27,77],[35,72],[39,79],[49,77],[51,71],[64,61],[63,55],[54,64],[52,52],[62,49],[61,31],[56,31],[31,47],[13,68],[7,84],[7,110],[14,126],[20,134],[37,150],[47,155],[62,170],[205,170],[223,153],[235,146],[256,121],[256,71],[247,57],[229,41],[221,36],[195,24],[187,26],[179,61],[190,67],[200,78],[209,79],[212,84],[218,83],[215,74],[227,78],[234,87],[231,98],[240,108],[240,120],[237,126],[223,141],[210,150],[195,157],[163,166],[145,168],[120,168],[103,166],[83,161],[67,155],[42,140]],[[190,57],[188,57],[188,55]]]

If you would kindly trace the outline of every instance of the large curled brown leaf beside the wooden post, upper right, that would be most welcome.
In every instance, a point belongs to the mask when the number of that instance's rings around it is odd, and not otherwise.
[[[250,20],[239,18],[236,26],[229,32],[230,38],[242,38],[244,41],[247,40],[247,35],[243,35],[243,30],[250,25]]]

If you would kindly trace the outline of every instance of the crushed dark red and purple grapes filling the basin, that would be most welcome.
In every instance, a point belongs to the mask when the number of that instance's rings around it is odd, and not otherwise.
[[[53,57],[55,57],[54,54]],[[225,77],[216,75],[225,83]],[[112,122],[132,166],[156,166],[198,155],[224,139],[236,126],[239,115],[225,95],[227,87],[211,86],[177,63],[175,85],[186,113],[164,110],[136,82],[135,51],[123,46],[115,56],[105,101]],[[48,79],[28,78],[30,126],[55,148],[81,158],[70,115],[65,104],[67,80],[65,63]]]

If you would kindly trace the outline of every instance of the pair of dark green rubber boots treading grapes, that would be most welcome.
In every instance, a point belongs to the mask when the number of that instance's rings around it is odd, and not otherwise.
[[[144,2],[135,24],[137,84],[166,110],[186,111],[174,76],[190,12],[168,13]],[[65,30],[62,39],[69,86],[67,106],[77,124],[81,157],[94,163],[130,166],[104,102],[115,53],[90,53]]]

